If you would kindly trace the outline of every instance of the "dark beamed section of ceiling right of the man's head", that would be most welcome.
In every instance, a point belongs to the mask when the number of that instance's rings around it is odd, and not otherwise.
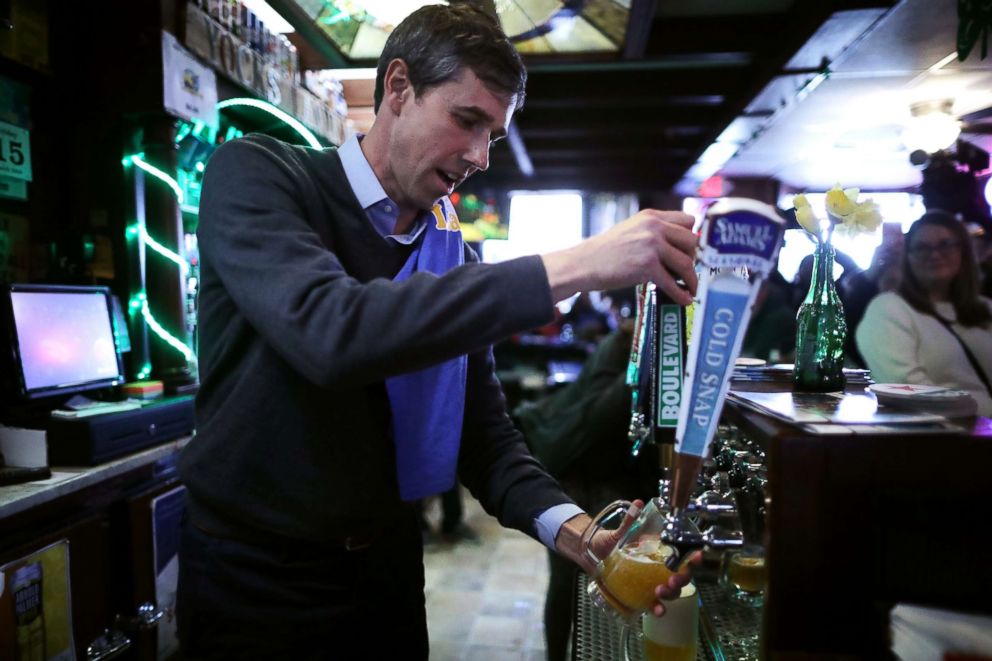
[[[790,70],[818,35],[824,53],[852,39],[849,16],[865,24],[890,0],[633,0],[625,52],[584,61],[528,58],[526,105],[516,123],[533,174],[508,143],[494,148],[477,185],[659,191],[674,187],[735,119],[756,125],[776,106],[750,108],[779,79],[793,96],[800,77],[829,65]],[[834,17],[834,29],[821,28]],[[857,35],[854,35],[857,36]],[[833,48],[830,43],[834,42]],[[745,112],[747,110],[747,112]]]

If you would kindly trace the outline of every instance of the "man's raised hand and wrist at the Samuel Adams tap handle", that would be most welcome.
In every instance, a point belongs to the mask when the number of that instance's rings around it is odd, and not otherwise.
[[[689,214],[644,209],[577,246],[542,255],[554,300],[650,281],[688,305],[696,293],[692,225]]]

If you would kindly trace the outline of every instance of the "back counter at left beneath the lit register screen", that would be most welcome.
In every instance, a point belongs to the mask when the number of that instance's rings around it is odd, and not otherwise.
[[[64,549],[76,658],[88,658],[87,648],[108,639],[108,630],[115,643],[126,642],[126,658],[157,658],[157,629],[133,623],[148,604],[153,611],[156,603],[169,606],[158,593],[156,549],[175,538],[178,518],[167,525],[154,503],[179,493],[175,464],[189,440],[98,466],[53,466],[47,480],[0,487],[0,570],[53,546]]]

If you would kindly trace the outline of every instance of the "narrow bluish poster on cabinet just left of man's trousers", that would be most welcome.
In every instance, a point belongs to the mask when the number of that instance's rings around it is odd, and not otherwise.
[[[158,658],[179,651],[176,638],[176,585],[179,581],[179,524],[186,487],[176,487],[152,500],[152,550],[155,556],[155,603],[165,615],[158,621]]]

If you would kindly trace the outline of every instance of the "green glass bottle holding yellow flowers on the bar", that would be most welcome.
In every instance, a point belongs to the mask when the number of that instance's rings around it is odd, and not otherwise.
[[[818,243],[813,278],[796,315],[795,390],[833,392],[844,389],[844,343],[847,321],[834,286],[834,247]]]

